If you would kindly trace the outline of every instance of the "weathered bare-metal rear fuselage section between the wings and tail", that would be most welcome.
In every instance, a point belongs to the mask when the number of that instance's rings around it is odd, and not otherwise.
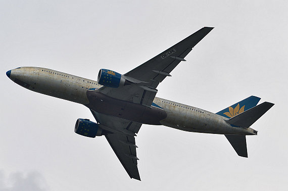
[[[163,108],[167,118],[161,124],[190,132],[214,134],[255,134],[252,128],[232,127],[225,117],[192,106],[155,98],[154,103]]]

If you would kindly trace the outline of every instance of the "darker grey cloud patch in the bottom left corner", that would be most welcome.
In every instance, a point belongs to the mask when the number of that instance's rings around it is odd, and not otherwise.
[[[6,181],[5,181],[6,180]],[[36,171],[24,174],[22,172],[11,173],[6,179],[3,170],[0,170],[0,190],[49,190],[44,177]]]

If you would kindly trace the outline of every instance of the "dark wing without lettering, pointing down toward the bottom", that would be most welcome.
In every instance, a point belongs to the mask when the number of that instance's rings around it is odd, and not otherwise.
[[[90,111],[101,127],[111,132],[105,137],[130,178],[140,180],[134,135],[142,124]]]

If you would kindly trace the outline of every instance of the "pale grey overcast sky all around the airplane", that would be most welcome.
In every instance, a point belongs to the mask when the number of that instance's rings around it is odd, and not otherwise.
[[[0,190],[287,190],[287,1],[0,2]],[[78,118],[95,121],[86,107],[5,74],[124,74],[204,26],[215,28],[156,96],[215,113],[250,95],[274,103],[251,126],[249,158],[224,135],[142,125],[141,181],[130,179],[104,136],[74,133]]]

